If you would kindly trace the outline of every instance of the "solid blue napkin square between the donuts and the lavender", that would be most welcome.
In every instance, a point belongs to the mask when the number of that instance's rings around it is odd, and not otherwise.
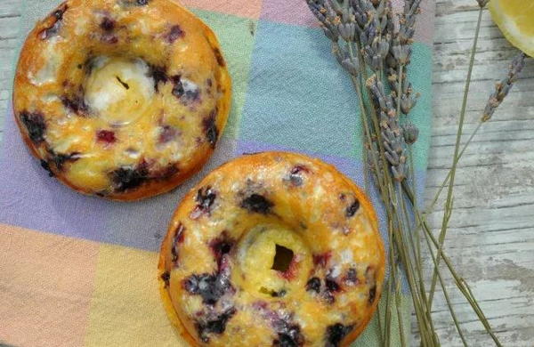
[[[255,38],[238,138],[360,158],[356,94],[322,30],[261,20]]]

